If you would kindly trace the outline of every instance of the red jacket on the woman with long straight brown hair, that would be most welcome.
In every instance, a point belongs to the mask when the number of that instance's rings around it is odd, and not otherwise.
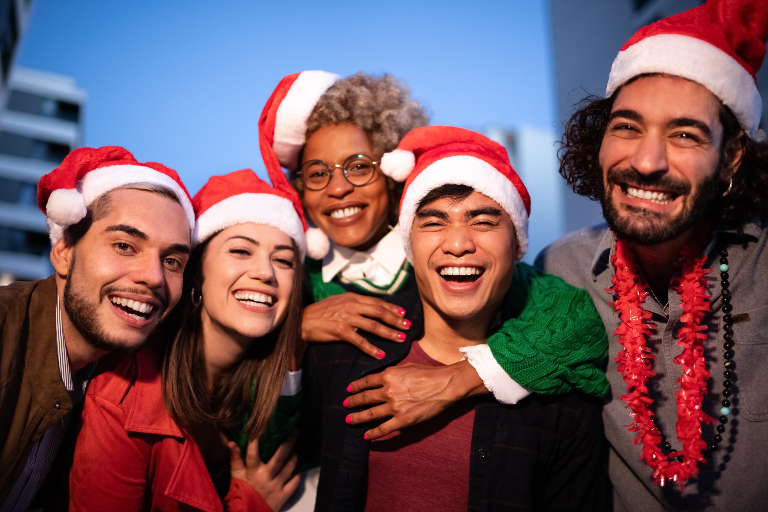
[[[233,478],[224,503],[194,438],[170,418],[149,349],[124,358],[88,385],[69,477],[69,510],[256,510],[272,512]]]

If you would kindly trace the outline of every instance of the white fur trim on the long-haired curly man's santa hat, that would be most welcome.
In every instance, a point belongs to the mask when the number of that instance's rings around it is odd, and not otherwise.
[[[605,96],[638,74],[666,73],[702,84],[736,115],[741,127],[755,137],[763,100],[754,78],[736,59],[701,39],[661,34],[619,51]]]

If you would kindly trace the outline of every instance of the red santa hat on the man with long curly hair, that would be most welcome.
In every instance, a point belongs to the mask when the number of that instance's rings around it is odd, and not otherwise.
[[[674,74],[709,89],[754,137],[763,111],[755,74],[766,38],[768,2],[709,0],[635,32],[611,66],[606,97],[638,74]]]

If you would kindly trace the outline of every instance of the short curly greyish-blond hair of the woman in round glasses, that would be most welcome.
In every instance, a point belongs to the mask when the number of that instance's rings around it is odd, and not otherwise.
[[[430,114],[411,97],[409,88],[390,74],[353,74],[323,93],[306,122],[308,140],[329,124],[353,124],[366,132],[375,158],[394,150],[410,130],[429,124]],[[303,195],[303,182],[292,173],[293,187]],[[386,177],[389,223],[397,223],[403,183]]]

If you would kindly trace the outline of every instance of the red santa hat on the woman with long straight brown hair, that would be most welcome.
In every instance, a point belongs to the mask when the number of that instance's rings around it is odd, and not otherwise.
[[[194,195],[192,204],[197,214],[192,236],[195,245],[227,227],[256,223],[286,233],[299,246],[301,258],[306,255],[306,223],[299,196],[288,183],[270,187],[253,170],[236,170],[210,177]]]

